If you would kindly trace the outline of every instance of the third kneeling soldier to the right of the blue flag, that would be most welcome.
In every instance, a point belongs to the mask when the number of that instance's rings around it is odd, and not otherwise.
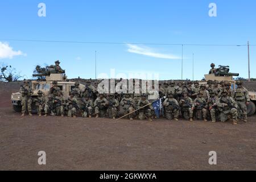
[[[202,93],[198,94],[198,97],[194,101],[194,105],[196,109],[196,118],[201,120],[203,115],[204,121],[207,121],[207,101]]]

